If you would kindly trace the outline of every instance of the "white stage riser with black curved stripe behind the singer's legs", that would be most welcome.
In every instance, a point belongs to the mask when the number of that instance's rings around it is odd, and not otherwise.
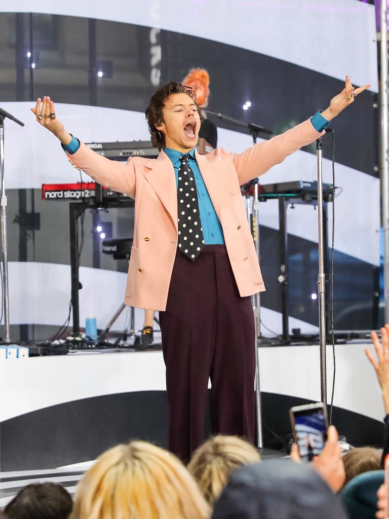
[[[355,342],[336,346],[334,405],[338,416],[341,410],[351,412],[379,426],[384,408],[365,347],[373,349],[372,344]],[[261,347],[259,360],[263,399],[271,394],[275,402],[272,415],[278,397],[320,400],[318,346]],[[327,377],[330,400],[331,346]],[[0,362],[1,471],[88,461],[130,438],[166,446],[167,426],[161,351],[76,352]]]

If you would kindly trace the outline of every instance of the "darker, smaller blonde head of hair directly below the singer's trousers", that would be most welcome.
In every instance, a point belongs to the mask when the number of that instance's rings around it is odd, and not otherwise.
[[[213,507],[231,473],[260,459],[257,449],[245,440],[238,436],[218,434],[196,450],[188,470],[197,481],[206,501]]]

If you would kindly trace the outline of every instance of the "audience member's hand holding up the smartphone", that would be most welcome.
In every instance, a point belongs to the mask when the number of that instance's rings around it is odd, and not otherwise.
[[[312,468],[322,476],[324,481],[334,492],[342,488],[346,477],[342,461],[342,448],[338,444],[338,439],[338,431],[333,425],[330,425],[327,430],[326,444],[322,452],[312,461]],[[290,459],[301,463],[296,444],[292,445]]]

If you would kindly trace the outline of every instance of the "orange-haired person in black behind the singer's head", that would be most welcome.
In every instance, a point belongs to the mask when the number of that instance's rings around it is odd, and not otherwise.
[[[182,84],[190,87],[196,93],[197,103],[201,108],[208,106],[210,97],[210,75],[205,69],[191,69],[182,80]],[[212,121],[206,118],[206,111],[202,111],[203,120],[199,131],[200,139],[217,148],[217,128]],[[200,141],[201,146],[201,141]]]

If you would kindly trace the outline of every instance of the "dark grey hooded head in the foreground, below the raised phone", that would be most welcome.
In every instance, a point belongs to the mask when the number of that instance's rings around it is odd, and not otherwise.
[[[265,460],[231,475],[212,519],[346,519],[338,495],[310,466]]]

